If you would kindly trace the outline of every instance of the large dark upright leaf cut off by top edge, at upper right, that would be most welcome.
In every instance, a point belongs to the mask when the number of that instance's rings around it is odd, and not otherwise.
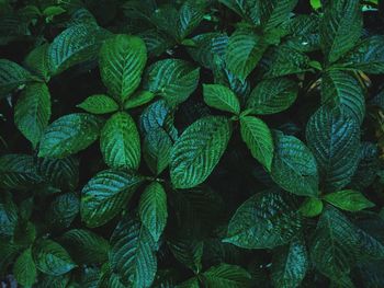
[[[359,0],[331,0],[320,21],[321,47],[329,62],[337,61],[359,41],[362,13]]]

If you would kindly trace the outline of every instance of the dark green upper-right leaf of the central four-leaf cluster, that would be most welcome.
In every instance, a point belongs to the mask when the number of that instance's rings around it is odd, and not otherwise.
[[[287,110],[296,100],[298,88],[287,78],[267,79],[251,92],[247,108],[255,114],[275,114]]]

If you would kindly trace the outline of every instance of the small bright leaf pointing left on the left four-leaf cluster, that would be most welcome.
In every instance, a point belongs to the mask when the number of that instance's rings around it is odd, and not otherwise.
[[[89,96],[76,106],[92,114],[106,114],[118,110],[118,104],[104,94]]]

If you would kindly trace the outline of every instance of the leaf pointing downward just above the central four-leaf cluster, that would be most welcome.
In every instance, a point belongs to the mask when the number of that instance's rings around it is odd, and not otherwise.
[[[229,37],[226,66],[240,80],[245,80],[256,68],[268,45],[262,37],[249,30],[236,30]]]

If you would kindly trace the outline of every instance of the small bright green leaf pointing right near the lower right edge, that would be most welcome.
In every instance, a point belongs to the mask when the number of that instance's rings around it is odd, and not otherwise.
[[[324,199],[342,210],[352,212],[375,206],[363,194],[351,189],[327,194]]]

